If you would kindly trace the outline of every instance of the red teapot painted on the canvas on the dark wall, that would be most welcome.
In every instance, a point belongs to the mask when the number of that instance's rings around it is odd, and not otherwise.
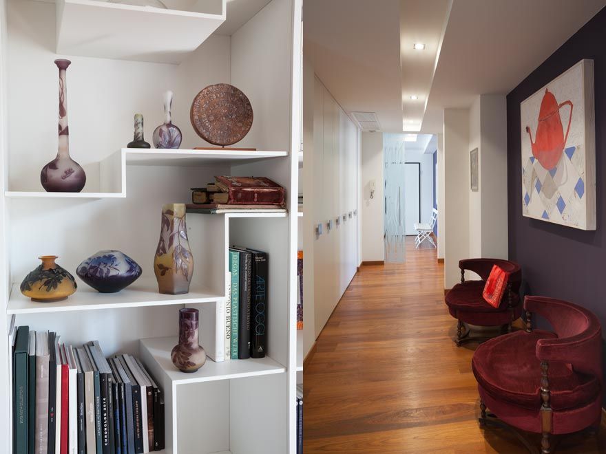
[[[570,113],[568,115],[568,126],[566,133],[562,126],[560,117],[560,109],[568,105]],[[541,165],[549,170],[552,170],[562,158],[564,146],[568,140],[570,132],[570,122],[572,121],[572,108],[574,105],[570,100],[558,104],[554,94],[545,89],[545,95],[541,101],[541,109],[539,110],[539,125],[536,127],[534,142],[532,141],[532,131],[530,126],[526,127],[526,132],[530,136],[530,145],[532,146],[532,155],[539,160]]]

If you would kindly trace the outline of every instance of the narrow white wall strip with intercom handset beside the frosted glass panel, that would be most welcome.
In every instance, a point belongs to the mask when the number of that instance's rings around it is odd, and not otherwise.
[[[383,134],[362,133],[362,261],[384,259]],[[370,181],[375,194],[370,198]]]

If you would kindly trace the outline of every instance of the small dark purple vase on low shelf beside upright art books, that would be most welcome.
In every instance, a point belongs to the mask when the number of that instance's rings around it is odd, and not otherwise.
[[[193,307],[179,310],[179,343],[171,351],[171,360],[182,372],[195,372],[206,363],[206,352],[198,344],[198,317]]]

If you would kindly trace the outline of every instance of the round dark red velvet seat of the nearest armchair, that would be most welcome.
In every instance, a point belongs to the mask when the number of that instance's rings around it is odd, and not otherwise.
[[[517,331],[488,340],[474,352],[472,370],[476,380],[497,400],[539,409],[541,363],[536,358],[536,342],[555,337],[553,333],[537,329],[532,333]],[[582,407],[598,396],[600,385],[594,376],[580,374],[556,361],[549,364],[552,409]]]

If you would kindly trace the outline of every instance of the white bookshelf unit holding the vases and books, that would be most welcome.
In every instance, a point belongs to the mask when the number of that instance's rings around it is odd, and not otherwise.
[[[9,371],[0,375],[0,406],[8,409],[0,413],[0,452],[12,452],[11,323],[55,331],[74,347],[98,340],[107,356],[140,358],[165,396],[163,453],[296,452],[302,0],[250,0],[235,14],[240,24],[245,11],[247,21],[229,36],[216,30],[229,24],[237,5],[163,1],[168,10],[104,0],[0,0],[0,288],[6,317],[0,362]],[[39,181],[57,149],[56,58],[72,61],[67,110],[70,154],[87,175],[81,193],[46,193]],[[210,145],[191,127],[191,101],[213,83],[231,83],[249,97],[253,126],[234,147],[256,151],[194,149]],[[174,91],[172,120],[182,131],[181,148],[125,148],[136,113],[143,114],[151,143],[163,122],[167,89]],[[215,175],[271,178],[286,188],[287,212],[187,213],[191,288],[160,294],[153,260],[162,205],[189,203],[190,188]],[[184,374],[170,360],[178,310],[196,307],[201,318],[215,313],[226,298],[233,244],[269,255],[267,356],[208,359],[196,373]],[[19,291],[40,255],[59,256],[57,263],[75,275],[83,259],[104,249],[125,252],[143,275],[115,294],[98,293],[76,277],[76,293],[54,303],[30,301]]]

